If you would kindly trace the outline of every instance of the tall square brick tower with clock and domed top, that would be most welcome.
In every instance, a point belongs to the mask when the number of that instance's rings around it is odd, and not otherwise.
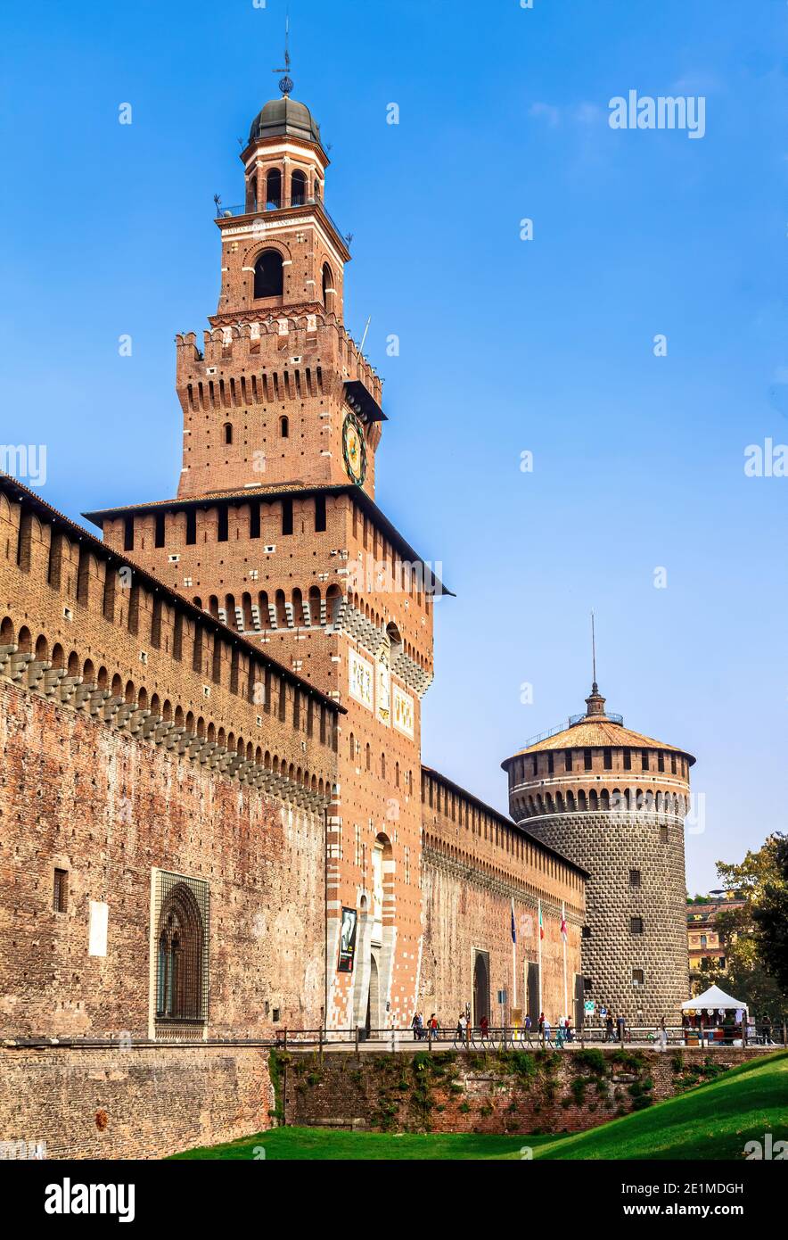
[[[383,1028],[406,1024],[416,998],[420,699],[442,587],[374,502],[382,384],[343,325],[351,255],[325,206],[320,128],[290,79],[280,87],[240,155],[243,203],[218,206],[221,293],[203,347],[176,337],[177,497],[87,516],[343,707],[326,1021]],[[287,706],[266,689],[263,735],[271,709],[284,719]],[[317,727],[311,713],[290,722]]]

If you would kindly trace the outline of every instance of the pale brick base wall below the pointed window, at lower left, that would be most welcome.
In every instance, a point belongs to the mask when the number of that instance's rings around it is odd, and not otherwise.
[[[47,1158],[164,1158],[268,1128],[274,1110],[252,1048],[0,1048],[0,1141],[43,1141]]]

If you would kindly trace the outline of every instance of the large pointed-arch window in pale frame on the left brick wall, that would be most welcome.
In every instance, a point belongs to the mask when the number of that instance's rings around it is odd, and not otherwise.
[[[156,1019],[204,1022],[207,884],[195,879],[187,883],[175,874],[164,873],[157,875],[157,880],[161,905],[156,960]],[[192,887],[197,888],[197,894]]]

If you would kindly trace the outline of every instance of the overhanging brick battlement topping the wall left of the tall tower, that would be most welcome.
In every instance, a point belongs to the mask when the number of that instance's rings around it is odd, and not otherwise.
[[[6,475],[0,675],[312,808],[336,781],[335,701]]]

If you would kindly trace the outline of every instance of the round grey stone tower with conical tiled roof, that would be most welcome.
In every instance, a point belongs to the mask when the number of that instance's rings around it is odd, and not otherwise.
[[[582,866],[585,998],[631,1024],[679,1019],[689,996],[683,749],[624,728],[596,681],[587,711],[502,763],[514,821]]]

